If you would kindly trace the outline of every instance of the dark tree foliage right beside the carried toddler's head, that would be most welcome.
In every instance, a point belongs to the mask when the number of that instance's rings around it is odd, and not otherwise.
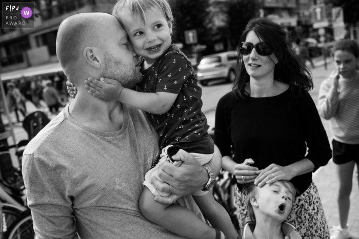
[[[175,21],[172,42],[182,42],[185,45],[184,32],[196,29],[198,43],[207,44],[210,36],[209,0],[170,0],[169,3]]]

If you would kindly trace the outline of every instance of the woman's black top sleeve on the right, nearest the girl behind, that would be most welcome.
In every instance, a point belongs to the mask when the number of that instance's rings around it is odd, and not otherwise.
[[[303,104],[300,106],[300,115],[302,117],[302,128],[308,147],[308,153],[305,158],[313,162],[313,171],[315,171],[328,163],[332,157],[332,150],[312,97],[307,94],[302,100]]]

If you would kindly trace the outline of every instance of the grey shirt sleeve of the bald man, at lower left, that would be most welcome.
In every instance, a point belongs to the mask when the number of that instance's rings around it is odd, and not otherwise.
[[[59,175],[53,173],[50,160],[44,162],[26,154],[22,171],[35,238],[78,238],[71,199],[63,193],[67,190]]]

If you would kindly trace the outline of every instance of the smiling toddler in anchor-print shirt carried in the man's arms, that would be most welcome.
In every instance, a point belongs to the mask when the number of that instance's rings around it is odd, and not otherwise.
[[[119,0],[112,15],[126,30],[134,52],[142,57],[143,80],[136,91],[123,88],[114,79],[89,78],[85,83],[89,93],[98,98],[118,100],[145,111],[158,133],[161,160],[157,163],[160,158],[157,157],[146,173],[139,209],[148,220],[188,238],[237,238],[228,213],[208,193],[214,177],[206,166],[210,176],[206,188],[192,195],[204,216],[220,231],[209,227],[186,207],[154,200],[160,194],[151,177],[158,178],[159,164],[166,160],[173,162],[173,155],[178,159],[179,149],[190,153],[201,165],[208,163],[214,153],[214,143],[207,133],[207,119],[201,111],[202,90],[197,85],[196,74],[188,58],[171,45],[173,17],[168,2]],[[181,161],[174,164],[179,166]],[[170,185],[168,193],[162,192],[161,196],[168,197],[169,192]]]

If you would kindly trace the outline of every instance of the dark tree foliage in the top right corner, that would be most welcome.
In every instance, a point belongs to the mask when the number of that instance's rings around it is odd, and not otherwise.
[[[355,25],[359,22],[358,0],[325,0],[325,3],[332,4],[334,7],[342,7],[345,23]]]

